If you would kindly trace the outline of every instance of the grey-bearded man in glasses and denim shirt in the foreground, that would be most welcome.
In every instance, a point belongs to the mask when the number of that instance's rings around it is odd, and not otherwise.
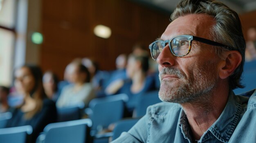
[[[214,0],[182,0],[149,48],[159,98],[113,143],[255,143],[256,92],[236,96],[245,40],[236,12]]]

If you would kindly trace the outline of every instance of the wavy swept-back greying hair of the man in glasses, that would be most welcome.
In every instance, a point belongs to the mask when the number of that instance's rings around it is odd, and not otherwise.
[[[240,83],[245,62],[245,39],[238,14],[221,2],[215,0],[181,0],[171,15],[173,21],[180,16],[194,13],[205,13],[216,20],[210,29],[213,41],[227,45],[227,48],[216,48],[216,54],[221,57],[227,50],[238,51],[242,55],[242,62],[229,77],[229,88],[244,88]]]

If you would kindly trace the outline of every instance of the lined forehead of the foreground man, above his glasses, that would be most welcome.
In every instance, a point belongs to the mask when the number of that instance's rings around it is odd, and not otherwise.
[[[213,24],[215,24],[214,18],[207,14],[184,15],[175,19],[167,26],[161,39],[166,40],[177,35],[194,35],[208,38]]]

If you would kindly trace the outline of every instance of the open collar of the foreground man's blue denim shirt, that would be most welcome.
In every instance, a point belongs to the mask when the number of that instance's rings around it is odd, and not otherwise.
[[[231,90],[229,92],[227,105],[220,114],[220,117],[206,132],[204,132],[199,142],[211,139],[213,137],[222,142],[228,142],[235,130],[240,111],[241,101],[236,95],[234,95],[234,92]],[[189,122],[183,110],[180,113],[179,127],[184,138],[191,141],[192,137]]]

